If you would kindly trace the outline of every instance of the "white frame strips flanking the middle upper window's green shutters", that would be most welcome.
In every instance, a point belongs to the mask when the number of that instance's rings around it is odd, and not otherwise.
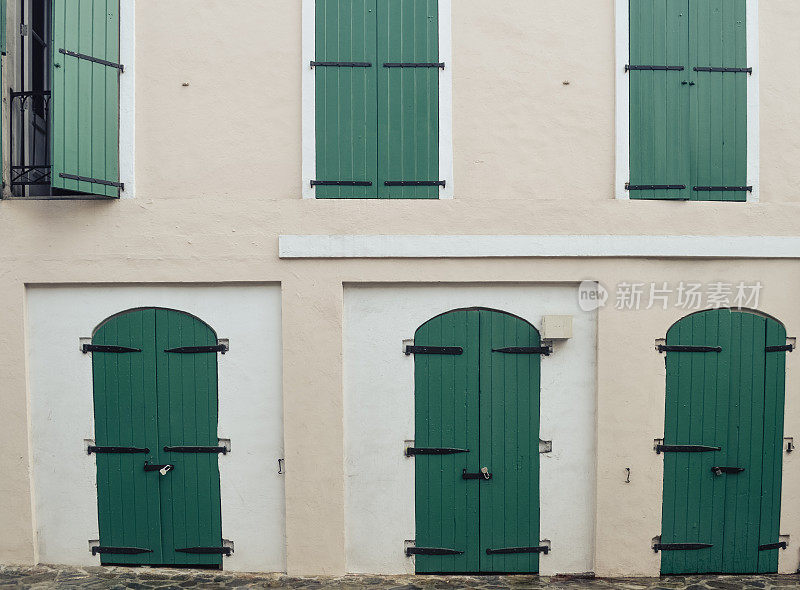
[[[311,181],[317,175],[316,85],[311,62],[316,48],[316,0],[303,0],[303,72],[302,89],[302,195],[315,199]],[[452,0],[439,0],[439,61],[445,63],[439,74],[439,178],[445,187],[439,189],[440,199],[453,198],[453,51]],[[126,66],[127,71],[127,66]]]

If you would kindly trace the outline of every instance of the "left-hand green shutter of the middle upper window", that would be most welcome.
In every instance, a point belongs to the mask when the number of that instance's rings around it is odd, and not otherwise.
[[[317,0],[316,61],[370,65],[315,67],[315,180],[371,183],[317,185],[317,198],[377,195],[376,29],[376,0]]]

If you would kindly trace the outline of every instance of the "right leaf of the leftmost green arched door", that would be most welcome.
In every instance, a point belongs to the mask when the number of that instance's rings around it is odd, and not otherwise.
[[[188,314],[158,310],[159,427],[162,447],[217,446],[217,359],[213,353],[174,354],[165,349],[208,346],[214,331]],[[218,456],[162,453],[175,469],[161,478],[164,562],[219,565],[220,555],[176,552],[185,547],[220,547],[222,530]]]

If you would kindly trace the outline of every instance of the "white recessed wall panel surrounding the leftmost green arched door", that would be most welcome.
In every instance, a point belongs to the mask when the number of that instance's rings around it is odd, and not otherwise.
[[[281,293],[260,286],[29,287],[28,375],[37,560],[99,565],[92,358],[79,350],[107,317],[137,307],[193,314],[230,351],[219,363],[222,536],[234,543],[223,568],[285,571]]]

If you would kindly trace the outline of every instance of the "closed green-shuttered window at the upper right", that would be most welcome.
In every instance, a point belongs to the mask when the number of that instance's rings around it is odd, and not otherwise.
[[[618,91],[627,93],[629,110],[618,116],[629,133],[620,154],[627,196],[755,200],[754,1],[624,4],[627,55]]]

